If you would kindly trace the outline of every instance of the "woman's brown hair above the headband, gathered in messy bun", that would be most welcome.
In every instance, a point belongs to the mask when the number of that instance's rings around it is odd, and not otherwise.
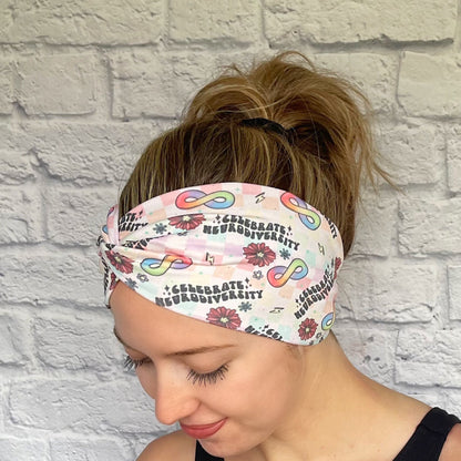
[[[242,182],[289,191],[331,218],[345,246],[355,234],[360,178],[377,166],[368,101],[298,52],[236,65],[204,86],[182,123],[152,141],[120,198],[126,213],[146,199],[199,184]],[[283,132],[243,124],[264,117]]]

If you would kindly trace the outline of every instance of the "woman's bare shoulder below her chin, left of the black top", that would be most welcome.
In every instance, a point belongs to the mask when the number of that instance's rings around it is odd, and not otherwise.
[[[152,441],[136,461],[194,461],[195,440],[183,431],[168,433]]]

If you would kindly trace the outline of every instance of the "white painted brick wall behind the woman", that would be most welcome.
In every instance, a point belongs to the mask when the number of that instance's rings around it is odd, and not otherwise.
[[[98,227],[219,65],[285,49],[367,92],[403,188],[365,191],[337,335],[461,414],[460,21],[457,0],[1,1],[0,461],[134,460],[167,430],[122,370]]]

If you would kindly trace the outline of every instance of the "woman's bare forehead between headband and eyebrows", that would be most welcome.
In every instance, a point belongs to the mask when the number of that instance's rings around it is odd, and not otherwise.
[[[125,342],[139,350],[143,350],[146,341],[165,349],[212,346],[228,341],[245,344],[258,339],[160,307],[123,283],[116,284],[110,304],[116,331]]]

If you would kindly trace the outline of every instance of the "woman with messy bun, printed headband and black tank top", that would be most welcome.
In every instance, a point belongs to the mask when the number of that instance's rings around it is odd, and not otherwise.
[[[461,459],[455,417],[361,375],[330,332],[360,178],[386,178],[359,105],[284,53],[206,85],[139,161],[100,239],[106,303],[182,427],[139,460]]]

